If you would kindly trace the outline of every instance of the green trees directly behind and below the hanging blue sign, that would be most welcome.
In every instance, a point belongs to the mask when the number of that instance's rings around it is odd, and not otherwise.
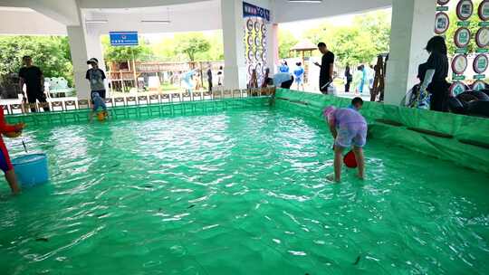
[[[138,46],[111,46],[108,35],[102,36],[104,59],[107,62],[123,62],[129,60],[149,61],[153,59],[153,52],[148,44],[139,38]]]

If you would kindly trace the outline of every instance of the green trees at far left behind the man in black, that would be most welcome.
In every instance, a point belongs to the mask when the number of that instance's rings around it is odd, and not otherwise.
[[[0,36],[0,76],[18,72],[24,55],[32,56],[45,77],[63,77],[73,84],[66,36]]]

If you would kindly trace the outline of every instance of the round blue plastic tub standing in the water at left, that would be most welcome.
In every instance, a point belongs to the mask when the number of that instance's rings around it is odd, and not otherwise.
[[[46,154],[31,154],[12,160],[15,175],[24,187],[41,185],[49,180]]]

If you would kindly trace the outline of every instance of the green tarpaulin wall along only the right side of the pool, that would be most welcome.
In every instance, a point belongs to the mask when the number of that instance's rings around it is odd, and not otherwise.
[[[317,119],[327,106],[350,105],[349,99],[296,90],[279,89],[275,98],[275,107]],[[489,119],[377,102],[365,102],[361,113],[369,123],[369,138],[381,139],[387,147],[407,147],[489,173]]]

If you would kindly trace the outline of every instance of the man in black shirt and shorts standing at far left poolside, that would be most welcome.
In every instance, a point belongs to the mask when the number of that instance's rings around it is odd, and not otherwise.
[[[35,103],[36,100],[39,100],[39,102],[46,102],[43,71],[41,71],[39,67],[33,65],[33,59],[28,55],[25,55],[22,58],[22,62],[24,62],[24,67],[19,71],[20,90],[24,89],[25,84],[25,91],[27,92],[27,100],[29,103]],[[44,107],[43,109],[44,111],[49,111],[49,107]],[[35,112],[36,109],[31,108],[31,111]]]

